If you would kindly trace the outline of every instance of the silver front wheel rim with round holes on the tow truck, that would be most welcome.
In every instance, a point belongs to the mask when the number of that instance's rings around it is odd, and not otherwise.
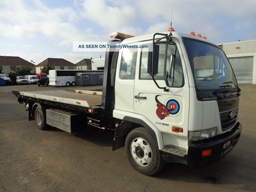
[[[152,149],[144,138],[134,138],[130,145],[130,152],[132,154],[132,158],[139,166],[146,167],[152,162]]]

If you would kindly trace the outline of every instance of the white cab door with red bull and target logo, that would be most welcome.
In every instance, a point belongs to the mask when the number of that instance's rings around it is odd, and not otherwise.
[[[158,88],[148,72],[150,59],[147,49],[139,50],[140,59],[134,82],[134,112],[146,116],[163,132],[164,145],[178,145],[177,142],[180,140],[177,137],[184,137],[184,143],[179,146],[186,148],[189,86],[180,46],[176,44],[178,42],[175,41],[170,44],[159,44],[158,73],[154,78],[158,85],[166,87],[168,92]],[[172,54],[175,54],[175,59],[173,59],[175,65],[170,66]],[[164,74],[165,67],[166,74]],[[173,132],[174,126],[182,128],[183,132]]]

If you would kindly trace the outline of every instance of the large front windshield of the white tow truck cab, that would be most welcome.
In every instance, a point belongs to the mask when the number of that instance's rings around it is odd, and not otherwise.
[[[184,39],[184,45],[198,90],[218,90],[221,86],[236,88],[234,72],[220,48],[192,39]]]

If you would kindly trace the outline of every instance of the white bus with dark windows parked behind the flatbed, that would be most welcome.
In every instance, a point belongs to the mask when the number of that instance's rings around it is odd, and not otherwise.
[[[97,73],[103,70],[49,70],[49,85],[76,86],[76,73]]]

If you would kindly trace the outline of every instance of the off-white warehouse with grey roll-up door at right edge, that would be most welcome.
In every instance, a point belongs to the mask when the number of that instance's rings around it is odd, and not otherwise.
[[[256,84],[256,40],[218,44],[224,50],[239,84]]]

